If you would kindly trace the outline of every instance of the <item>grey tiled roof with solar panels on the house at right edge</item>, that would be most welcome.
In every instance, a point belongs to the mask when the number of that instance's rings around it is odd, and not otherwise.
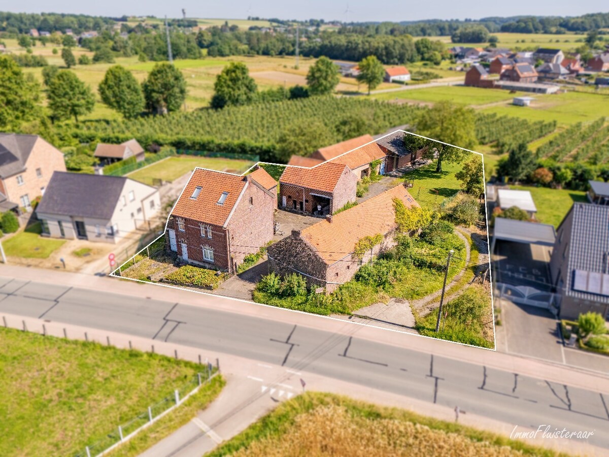
[[[607,273],[605,263],[609,255],[609,206],[575,203],[563,223],[568,221],[571,221],[572,228],[565,293],[578,299],[609,303],[609,296],[574,289],[576,270]]]

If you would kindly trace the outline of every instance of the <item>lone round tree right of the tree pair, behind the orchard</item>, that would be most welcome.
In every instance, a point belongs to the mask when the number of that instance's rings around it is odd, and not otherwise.
[[[255,99],[256,90],[258,87],[247,66],[241,62],[229,63],[216,76],[211,106],[247,105]]]

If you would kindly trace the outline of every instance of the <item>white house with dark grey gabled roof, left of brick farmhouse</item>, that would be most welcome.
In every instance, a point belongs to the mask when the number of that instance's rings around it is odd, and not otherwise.
[[[43,234],[118,243],[156,221],[158,190],[119,176],[56,171],[36,208]],[[139,236],[139,235],[138,235]]]

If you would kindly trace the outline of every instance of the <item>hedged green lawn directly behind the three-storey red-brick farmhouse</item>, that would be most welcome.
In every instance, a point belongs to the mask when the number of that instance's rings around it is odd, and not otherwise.
[[[146,168],[139,169],[127,174],[131,179],[152,185],[154,178],[172,182],[181,175],[193,171],[195,167],[209,168],[218,171],[227,171],[241,174],[254,162],[249,160],[234,160],[222,157],[194,157],[190,155],[178,155],[153,163]]]

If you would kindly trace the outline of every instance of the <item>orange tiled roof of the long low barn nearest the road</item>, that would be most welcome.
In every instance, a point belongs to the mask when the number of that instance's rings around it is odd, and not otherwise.
[[[419,206],[406,188],[399,185],[332,216],[332,222],[324,219],[305,228],[300,236],[326,264],[333,264],[353,253],[357,241],[365,236],[386,235],[396,228],[395,198],[408,208]]]

